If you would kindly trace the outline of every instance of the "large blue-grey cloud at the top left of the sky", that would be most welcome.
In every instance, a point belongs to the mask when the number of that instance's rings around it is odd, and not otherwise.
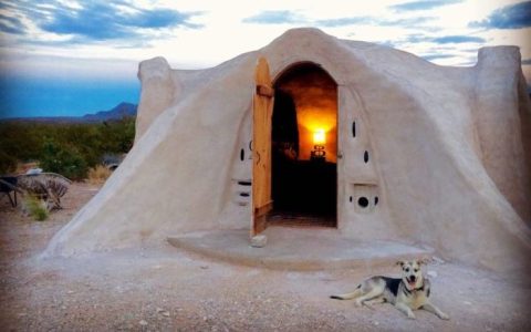
[[[72,37],[72,42],[138,38],[147,29],[201,28],[190,22],[192,17],[199,14],[197,12],[165,8],[142,9],[121,0],[86,1],[76,8],[59,1],[43,1],[39,4],[31,6],[24,1],[9,3],[11,11],[24,14],[38,28]]]

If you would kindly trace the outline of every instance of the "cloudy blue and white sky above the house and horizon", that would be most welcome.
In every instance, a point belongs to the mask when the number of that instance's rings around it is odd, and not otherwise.
[[[202,69],[314,27],[470,66],[518,45],[531,82],[531,1],[0,0],[0,117],[79,116],[138,103],[138,62]]]

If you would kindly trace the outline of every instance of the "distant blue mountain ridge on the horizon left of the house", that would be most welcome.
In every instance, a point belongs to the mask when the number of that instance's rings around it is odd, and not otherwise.
[[[0,118],[0,122],[45,122],[45,123],[96,123],[104,121],[121,120],[123,117],[135,117],[137,105],[119,103],[108,111],[85,114],[83,116],[38,116],[38,117],[10,117]]]

